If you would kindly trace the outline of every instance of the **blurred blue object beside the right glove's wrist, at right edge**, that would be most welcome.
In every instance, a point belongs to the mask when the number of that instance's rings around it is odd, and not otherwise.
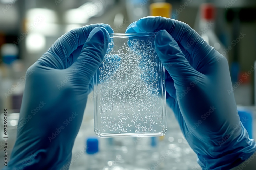
[[[252,113],[249,110],[238,109],[238,115],[244,128],[247,130],[250,139],[252,139]]]

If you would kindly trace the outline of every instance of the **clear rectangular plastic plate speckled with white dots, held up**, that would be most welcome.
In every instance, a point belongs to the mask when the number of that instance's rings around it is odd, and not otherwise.
[[[154,45],[156,34],[110,34],[107,53],[94,76],[97,136],[165,134],[165,75]]]

